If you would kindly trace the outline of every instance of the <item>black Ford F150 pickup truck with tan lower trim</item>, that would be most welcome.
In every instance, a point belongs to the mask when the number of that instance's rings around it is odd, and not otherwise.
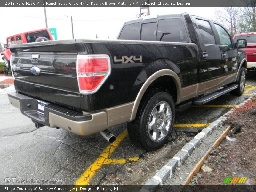
[[[126,22],[114,41],[11,45],[16,92],[8,97],[36,127],[101,132],[114,142],[107,129],[128,122],[131,140],[155,150],[176,111],[242,95],[246,44],[219,23],[183,13]]]

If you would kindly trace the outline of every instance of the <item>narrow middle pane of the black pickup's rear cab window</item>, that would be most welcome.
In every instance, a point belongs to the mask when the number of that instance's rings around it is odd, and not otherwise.
[[[157,22],[142,24],[140,40],[156,41],[156,27],[157,27]]]

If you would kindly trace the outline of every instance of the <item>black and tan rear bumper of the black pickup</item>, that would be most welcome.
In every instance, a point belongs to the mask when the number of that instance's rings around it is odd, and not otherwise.
[[[44,116],[37,113],[37,99],[20,93],[8,93],[11,104],[33,122],[49,127],[59,127],[77,135],[90,135],[107,128],[107,113],[79,113],[50,103],[44,107]]]

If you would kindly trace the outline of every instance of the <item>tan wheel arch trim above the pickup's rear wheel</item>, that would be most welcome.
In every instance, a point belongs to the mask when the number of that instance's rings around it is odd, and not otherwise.
[[[161,69],[161,70],[156,71],[155,73],[153,73],[151,76],[149,76],[148,79],[146,80],[146,82],[140,88],[140,91],[137,94],[137,97],[134,101],[130,121],[133,121],[135,119],[136,114],[137,114],[137,110],[138,110],[139,105],[140,105],[140,101],[141,101],[143,95],[145,94],[145,92],[148,90],[148,88],[150,88],[150,85],[152,85],[154,82],[156,82],[157,79],[159,79],[161,77],[164,77],[164,76],[170,77],[172,79],[172,81],[175,83],[176,94],[177,94],[177,100],[176,100],[175,103],[177,104],[177,103],[180,102],[180,95],[181,95],[180,78],[178,77],[178,75],[174,71],[172,71],[170,69]]]

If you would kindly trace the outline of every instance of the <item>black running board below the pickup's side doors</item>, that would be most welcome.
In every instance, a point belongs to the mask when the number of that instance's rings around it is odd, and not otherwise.
[[[235,84],[234,85],[230,85],[230,86],[228,86],[226,88],[218,90],[217,92],[213,92],[213,93],[211,93],[209,95],[205,95],[205,96],[203,96],[203,97],[201,97],[199,99],[194,100],[193,104],[194,105],[203,105],[204,103],[207,103],[207,102],[209,102],[211,100],[214,100],[217,97],[219,97],[221,95],[224,95],[225,93],[230,92],[230,91],[236,89],[237,87],[238,87],[238,85],[235,85]]]

